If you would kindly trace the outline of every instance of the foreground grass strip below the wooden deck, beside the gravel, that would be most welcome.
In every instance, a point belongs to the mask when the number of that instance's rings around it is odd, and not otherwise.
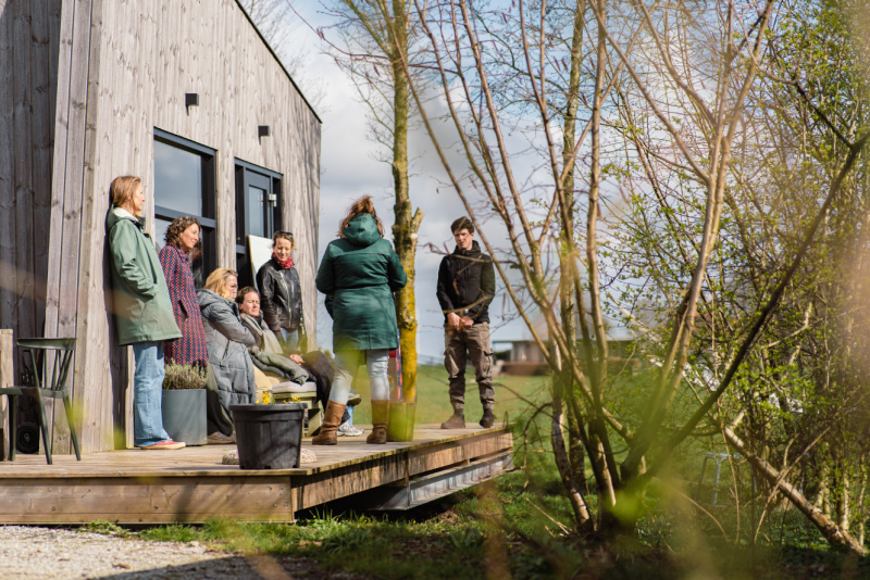
[[[870,558],[794,545],[725,543],[691,514],[678,514],[650,494],[639,541],[602,543],[564,537],[570,507],[548,459],[530,463],[531,480],[514,471],[497,483],[455,494],[440,505],[401,519],[352,512],[312,513],[296,525],[211,520],[204,526],[163,526],[142,539],[198,541],[213,550],[297,556],[328,573],[370,578],[440,580],[514,579],[770,579],[865,578]],[[546,515],[544,515],[546,513]],[[105,522],[94,531],[113,533]]]

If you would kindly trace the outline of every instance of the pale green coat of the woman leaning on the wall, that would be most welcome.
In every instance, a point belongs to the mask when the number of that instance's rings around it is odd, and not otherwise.
[[[105,215],[112,256],[112,304],[117,343],[158,342],[182,338],[154,242],[133,214],[115,205]]]

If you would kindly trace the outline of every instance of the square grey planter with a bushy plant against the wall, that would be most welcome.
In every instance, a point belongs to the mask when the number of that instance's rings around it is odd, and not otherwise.
[[[187,445],[207,443],[206,373],[201,366],[165,366],[163,378],[163,428],[175,441]]]

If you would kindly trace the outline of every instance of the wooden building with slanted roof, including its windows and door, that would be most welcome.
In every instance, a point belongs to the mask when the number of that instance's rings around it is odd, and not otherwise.
[[[112,178],[141,176],[161,244],[174,217],[199,217],[203,278],[238,267],[244,281],[246,237],[291,230],[314,337],[320,123],[236,0],[0,0],[0,328],[78,339],[84,452],[132,443]]]

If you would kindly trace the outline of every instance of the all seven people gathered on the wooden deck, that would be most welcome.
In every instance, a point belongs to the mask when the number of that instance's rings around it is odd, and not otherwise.
[[[238,274],[228,268],[215,269],[197,289],[190,269],[190,255],[199,243],[197,219],[175,219],[158,254],[139,219],[145,202],[141,179],[117,177],[110,192],[105,229],[113,305],[117,342],[130,345],[135,357],[137,447],[184,446],[173,441],[162,425],[164,362],[207,370],[210,443],[235,442],[229,405],[256,402],[258,392],[277,381],[314,381],[325,407],[320,433],[312,440],[318,445],[334,445],[339,434],[362,434],[348,420],[346,407],[359,401],[349,401],[351,382],[358,367],[365,364],[373,424],[366,442],[386,443],[387,365],[389,351],[398,348],[393,294],[405,288],[407,276],[393,245],[384,239],[384,226],[371,198],[363,197],[350,206],[338,239],[326,248],[318,270],[318,290],[327,295],[327,310],[334,318],[333,367],[322,352],[304,352],[308,340],[301,285],[293,264],[290,232],[275,232],[272,257],[257,274],[260,291],[252,287],[239,290]],[[495,291],[495,278],[492,261],[472,240],[473,225],[462,219],[459,235],[453,228],[457,252],[445,257],[447,265],[442,264],[438,278],[438,300],[446,318],[445,364],[455,409],[442,427],[464,428],[465,349],[484,404],[481,425],[490,427],[492,349],[486,305]]]

